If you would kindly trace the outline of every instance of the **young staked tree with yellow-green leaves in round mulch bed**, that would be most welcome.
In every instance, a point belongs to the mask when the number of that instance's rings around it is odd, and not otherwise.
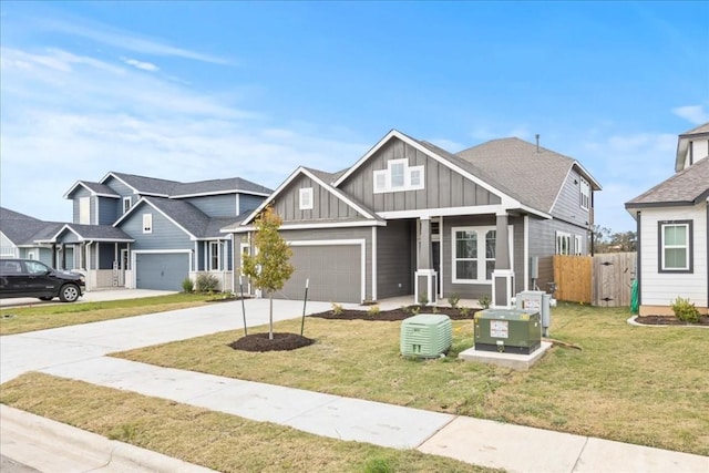
[[[274,291],[284,287],[295,268],[288,260],[292,249],[278,234],[282,219],[269,206],[256,218],[254,246],[256,255],[244,255],[244,274],[269,296],[268,339],[274,339]]]

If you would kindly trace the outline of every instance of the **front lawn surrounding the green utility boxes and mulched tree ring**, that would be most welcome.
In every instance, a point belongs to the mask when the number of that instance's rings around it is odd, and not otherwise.
[[[552,336],[582,350],[554,347],[527,372],[458,360],[472,346],[472,321],[454,321],[449,356],[430,361],[399,356],[401,322],[317,318],[305,332],[317,342],[295,351],[236,351],[227,345],[240,333],[229,331],[115,356],[709,455],[709,330],[627,318],[627,308],[555,308]]]

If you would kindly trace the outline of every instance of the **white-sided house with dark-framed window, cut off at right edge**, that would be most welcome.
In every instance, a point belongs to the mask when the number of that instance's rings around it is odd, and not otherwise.
[[[679,135],[675,174],[625,204],[637,222],[640,315],[709,310],[709,123]]]

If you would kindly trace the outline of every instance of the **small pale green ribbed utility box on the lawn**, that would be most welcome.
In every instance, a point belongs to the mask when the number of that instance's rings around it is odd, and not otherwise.
[[[401,322],[401,354],[438,358],[453,342],[453,325],[448,316],[419,313]]]

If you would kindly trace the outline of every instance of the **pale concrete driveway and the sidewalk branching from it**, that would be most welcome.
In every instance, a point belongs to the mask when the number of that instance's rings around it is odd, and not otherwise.
[[[301,302],[275,302],[278,319],[299,317],[302,311]],[[255,299],[246,304],[249,325],[267,322],[267,300]],[[330,308],[327,302],[308,304],[311,313]],[[424,453],[507,471],[709,471],[709,459],[699,455],[105,357],[116,350],[239,329],[240,313],[240,302],[219,302],[174,312],[2,337],[0,374],[2,381],[6,381],[28,370],[37,370],[256,421],[276,422],[318,435],[399,449],[418,449]],[[0,411],[3,412],[4,410]],[[6,419],[2,415],[4,425]],[[8,435],[10,434],[6,435],[3,432],[3,441]],[[100,446],[101,442],[96,442],[96,448],[103,449]],[[29,452],[30,455],[38,456],[35,451],[30,449]],[[18,454],[20,453],[16,452],[12,457],[32,465],[23,461],[25,459],[17,457]],[[146,452],[141,454],[150,456]]]

